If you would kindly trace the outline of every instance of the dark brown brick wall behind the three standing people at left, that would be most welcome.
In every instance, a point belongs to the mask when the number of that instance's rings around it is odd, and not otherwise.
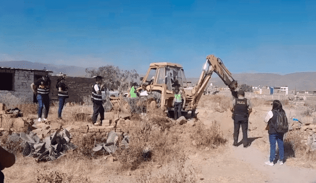
[[[53,100],[57,100],[58,90],[56,88],[57,79],[59,76],[51,76]],[[95,79],[86,77],[66,77],[65,84],[69,88],[69,99],[66,102],[84,102],[84,98],[90,100],[92,85]]]

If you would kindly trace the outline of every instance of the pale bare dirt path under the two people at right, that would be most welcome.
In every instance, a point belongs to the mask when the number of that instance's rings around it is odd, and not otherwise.
[[[212,120],[221,123],[223,134],[229,141],[226,146],[212,150],[213,152],[204,150],[190,156],[190,163],[200,169],[198,183],[316,183],[314,169],[299,168],[295,163],[290,163],[289,166],[287,162],[282,166],[264,164],[270,155],[268,134],[264,130],[263,122],[268,110],[271,110],[271,107],[254,108],[250,115],[248,138],[251,146],[248,148],[244,148],[241,143],[238,147],[232,146],[234,126],[231,112],[199,110],[202,114],[199,118],[206,126],[210,125]],[[290,115],[290,111],[287,111]],[[242,139],[241,129],[238,139],[239,142]]]

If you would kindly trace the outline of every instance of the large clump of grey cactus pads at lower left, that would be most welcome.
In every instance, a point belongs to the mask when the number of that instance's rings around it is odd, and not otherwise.
[[[71,135],[66,130],[60,128],[54,134],[47,136],[44,139],[33,132],[26,134],[13,133],[9,136],[9,141],[18,142],[22,140],[24,156],[34,157],[37,161],[49,161],[60,158],[65,155],[68,150],[75,149],[76,146],[70,142]]]

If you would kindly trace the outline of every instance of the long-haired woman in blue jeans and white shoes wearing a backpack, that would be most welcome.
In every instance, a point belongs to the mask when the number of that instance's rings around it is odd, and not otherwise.
[[[277,112],[284,112],[282,109],[282,104],[278,100],[274,100],[272,104],[272,110],[268,111],[264,121],[268,123],[267,129],[269,133],[269,141],[270,141],[270,161],[265,162],[266,165],[273,166],[274,160],[276,156],[276,142],[279,150],[279,159],[277,163],[283,165],[284,159],[284,146],[283,146],[283,136],[284,133],[278,133],[276,131],[276,118]]]

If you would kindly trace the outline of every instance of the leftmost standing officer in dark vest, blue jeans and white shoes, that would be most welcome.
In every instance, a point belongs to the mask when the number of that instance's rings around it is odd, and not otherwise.
[[[45,106],[44,110],[44,121],[47,121],[48,111],[49,111],[49,91],[50,91],[50,79],[48,75],[42,76],[40,79],[34,81],[31,84],[31,89],[35,95],[37,95],[37,100],[39,103],[39,119],[41,121],[41,115],[43,111],[43,106]]]

